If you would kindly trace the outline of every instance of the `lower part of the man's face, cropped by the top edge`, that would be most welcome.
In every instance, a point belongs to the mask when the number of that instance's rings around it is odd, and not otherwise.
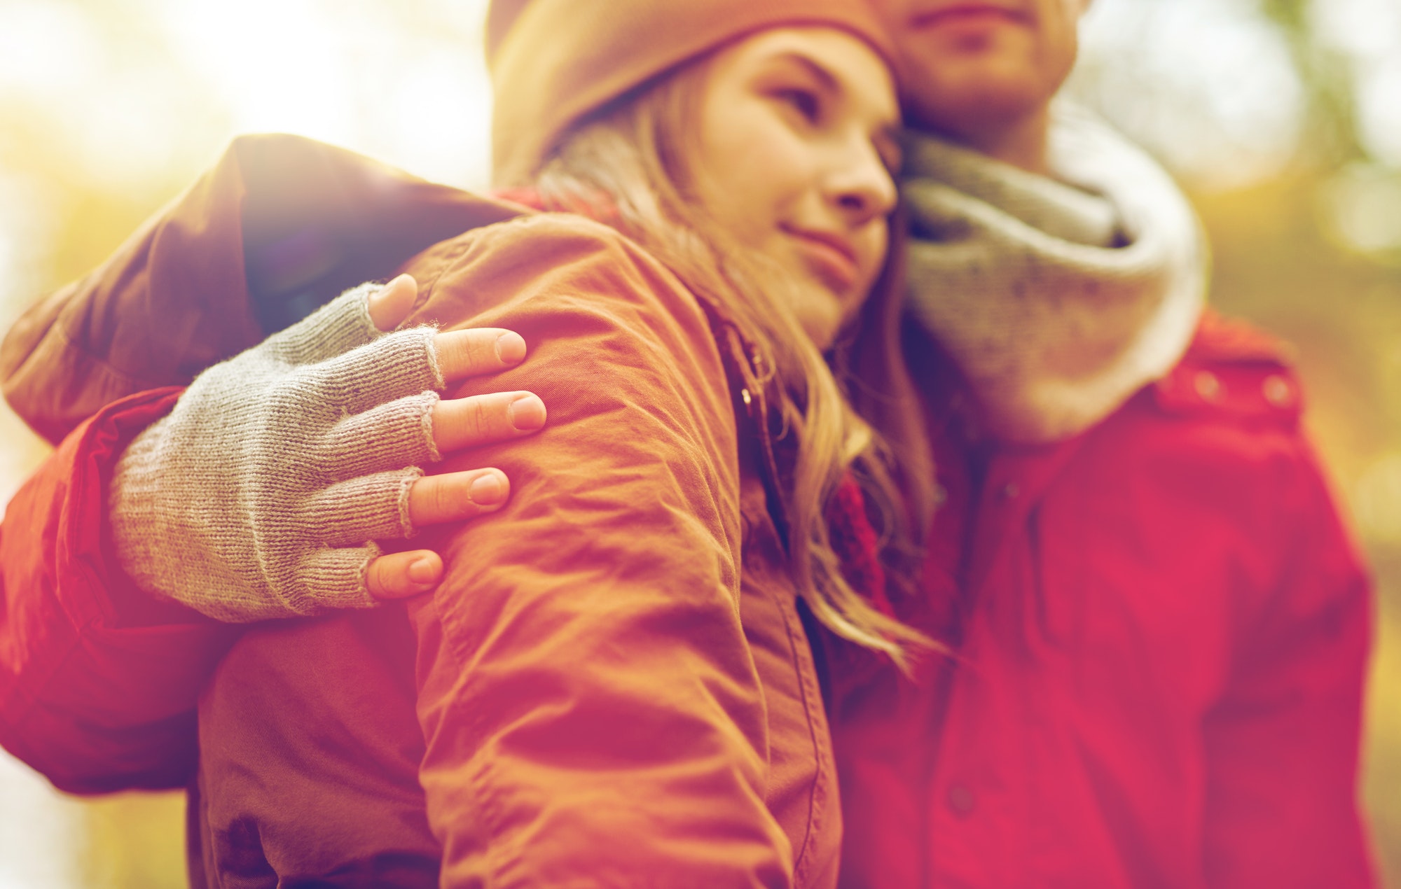
[[[906,118],[979,144],[1041,115],[1075,66],[1089,0],[874,0],[899,45]]]

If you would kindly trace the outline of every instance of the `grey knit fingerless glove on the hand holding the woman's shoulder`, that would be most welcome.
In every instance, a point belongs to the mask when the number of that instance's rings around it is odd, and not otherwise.
[[[108,507],[144,591],[234,623],[374,605],[374,540],[413,532],[443,388],[436,330],[381,333],[377,290],[209,368],[126,449]]]

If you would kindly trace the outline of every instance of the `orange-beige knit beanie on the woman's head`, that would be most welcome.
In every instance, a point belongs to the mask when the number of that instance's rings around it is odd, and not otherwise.
[[[583,118],[689,59],[779,25],[841,28],[895,59],[866,0],[492,0],[495,183],[528,185]]]

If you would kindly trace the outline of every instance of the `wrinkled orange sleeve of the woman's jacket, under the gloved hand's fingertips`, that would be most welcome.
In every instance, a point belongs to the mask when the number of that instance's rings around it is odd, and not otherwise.
[[[531,358],[489,385],[551,409],[474,454],[511,503],[446,532],[415,613],[443,885],[786,886],[719,353],[668,273],[580,225],[496,227],[425,284],[419,319],[524,335]]]

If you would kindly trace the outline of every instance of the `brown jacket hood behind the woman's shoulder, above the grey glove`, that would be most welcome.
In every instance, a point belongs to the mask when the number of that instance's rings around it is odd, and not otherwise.
[[[336,294],[518,206],[297,136],[242,136],[97,270],[0,343],[0,389],[57,444],[104,405],[186,385]]]

